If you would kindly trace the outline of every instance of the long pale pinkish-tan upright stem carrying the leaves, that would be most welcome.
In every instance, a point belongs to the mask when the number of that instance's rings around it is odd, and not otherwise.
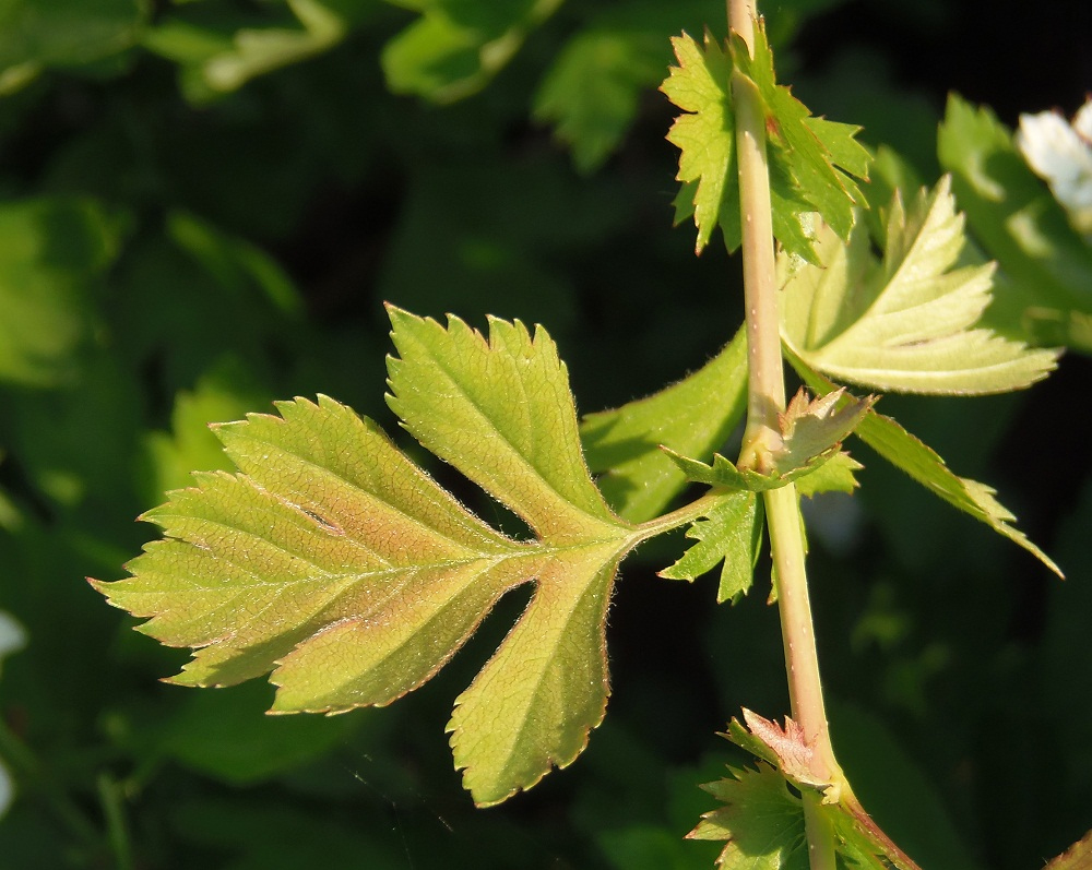
[[[751,50],[755,14],[752,0],[728,0],[728,25]],[[732,95],[736,109],[747,359],[750,367],[747,427],[739,464],[765,473],[770,470],[772,454],[782,445],[778,415],[785,409],[765,117],[755,85],[738,73],[733,76]],[[804,536],[796,487],[790,484],[768,490],[764,499],[792,715],[804,729],[815,752],[811,773],[823,780],[841,780],[830,743],[819,681],[819,657],[804,568]],[[815,792],[804,795],[804,819],[811,869],[834,870],[833,832],[819,813],[819,796]]]

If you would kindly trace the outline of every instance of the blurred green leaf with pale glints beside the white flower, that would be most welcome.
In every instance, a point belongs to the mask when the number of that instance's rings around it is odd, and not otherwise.
[[[985,107],[952,95],[937,154],[971,231],[1005,283],[987,317],[1037,344],[1092,350],[1092,246]]]

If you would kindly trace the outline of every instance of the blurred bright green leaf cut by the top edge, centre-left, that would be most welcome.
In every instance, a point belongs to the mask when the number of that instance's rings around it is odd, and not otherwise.
[[[382,64],[396,94],[453,103],[480,91],[562,0],[425,0],[389,41]]]

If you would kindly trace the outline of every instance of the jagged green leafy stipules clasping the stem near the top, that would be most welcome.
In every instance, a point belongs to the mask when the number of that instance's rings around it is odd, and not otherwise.
[[[698,227],[696,251],[709,243],[720,226],[728,251],[740,243],[739,193],[735,157],[733,76],[753,87],[769,130],[773,231],[785,250],[816,262],[800,224],[807,212],[819,212],[842,238],[853,224],[854,204],[864,198],[850,176],[864,178],[870,156],[854,140],[858,128],[812,118],[787,87],[778,85],[773,55],[761,26],[755,29],[755,56],[738,35],[725,51],[707,33],[704,47],[684,34],[674,37],[678,67],[672,67],[661,90],[682,109],[667,134],[679,155],[676,223],[692,214]],[[844,171],[843,171],[844,170]]]

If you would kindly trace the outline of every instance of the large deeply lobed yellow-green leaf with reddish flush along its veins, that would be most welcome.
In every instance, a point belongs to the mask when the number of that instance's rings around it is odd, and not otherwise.
[[[456,766],[482,805],[569,764],[603,718],[604,622],[618,562],[642,533],[589,477],[565,366],[549,336],[490,321],[489,338],[391,309],[391,406],[438,455],[535,532],[468,513],[371,421],[320,397],[217,434],[241,474],[205,474],[147,519],[163,526],[95,583],[197,647],[174,679],[224,686],[273,671],[273,711],[384,705],[420,686],[512,587],[526,611],[456,700]],[[645,535],[646,536],[646,535]]]

